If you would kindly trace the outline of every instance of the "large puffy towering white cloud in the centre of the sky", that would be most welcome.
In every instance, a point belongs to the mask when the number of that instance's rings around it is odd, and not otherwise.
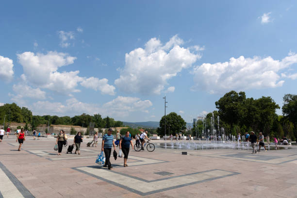
[[[115,85],[126,93],[160,94],[169,79],[200,58],[181,44],[183,40],[177,35],[165,44],[151,38],[144,49],[137,48],[125,55],[125,66]]]

